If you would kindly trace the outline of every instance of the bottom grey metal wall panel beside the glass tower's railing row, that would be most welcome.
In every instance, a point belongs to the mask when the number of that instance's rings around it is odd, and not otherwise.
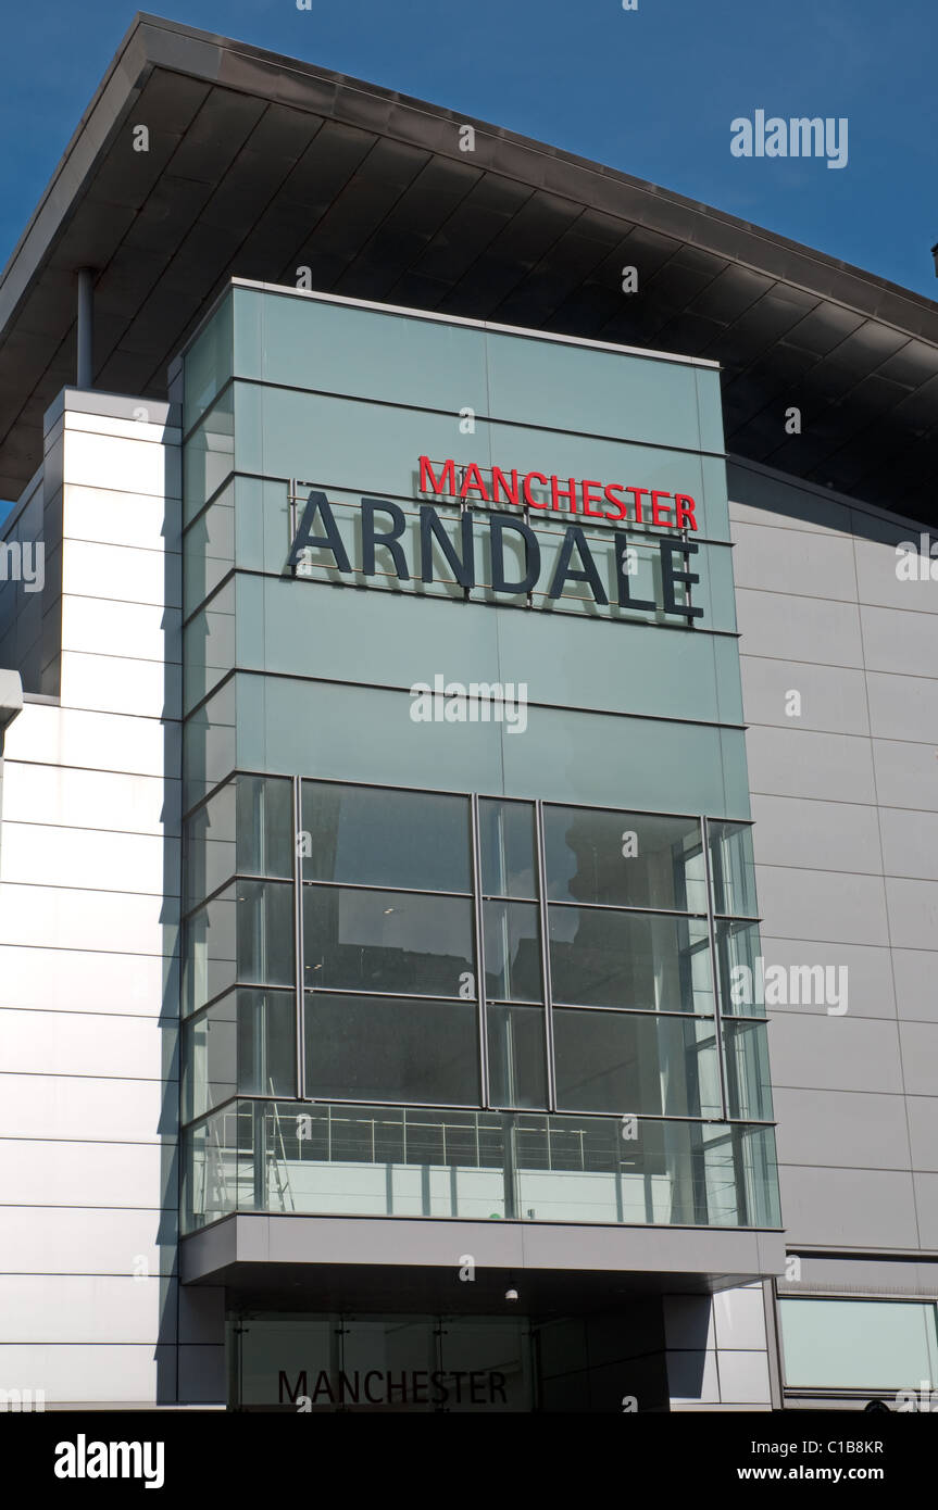
[[[779,1173],[788,1247],[888,1252],[918,1246],[911,1173],[804,1164],[782,1166]]]

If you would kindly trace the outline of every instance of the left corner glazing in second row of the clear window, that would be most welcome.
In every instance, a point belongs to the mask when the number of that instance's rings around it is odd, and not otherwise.
[[[186,924],[183,1001],[196,1012],[236,982],[293,985],[293,888],[239,880]]]

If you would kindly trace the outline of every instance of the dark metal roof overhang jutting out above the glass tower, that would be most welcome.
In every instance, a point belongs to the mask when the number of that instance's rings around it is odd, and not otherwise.
[[[35,473],[42,414],[74,382],[85,266],[103,390],[165,399],[169,361],[231,276],[295,285],[308,266],[328,293],[716,359],[728,450],[935,516],[930,299],[500,127],[172,21],[134,18],[0,278],[3,497]],[[785,435],[788,405],[801,435]]]

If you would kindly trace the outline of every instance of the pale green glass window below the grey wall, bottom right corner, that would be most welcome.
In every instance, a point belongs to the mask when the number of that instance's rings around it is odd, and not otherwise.
[[[781,1300],[779,1312],[790,1388],[879,1394],[938,1382],[932,1303]]]

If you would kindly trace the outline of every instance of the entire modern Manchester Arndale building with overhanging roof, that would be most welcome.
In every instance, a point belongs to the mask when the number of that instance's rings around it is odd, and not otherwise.
[[[2,1388],[938,1385],[936,396],[927,299],[134,20],[0,279]]]

